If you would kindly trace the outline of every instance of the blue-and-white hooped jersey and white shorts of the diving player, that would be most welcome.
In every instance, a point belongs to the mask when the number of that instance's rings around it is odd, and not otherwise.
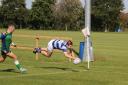
[[[48,50],[52,51],[53,49],[58,49],[58,50],[62,50],[63,52],[66,52],[68,50],[67,42],[59,39],[51,40],[48,43]]]

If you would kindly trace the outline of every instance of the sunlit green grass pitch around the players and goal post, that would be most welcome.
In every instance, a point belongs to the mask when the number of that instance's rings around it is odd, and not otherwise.
[[[17,45],[35,47],[36,34],[49,36],[40,39],[41,47],[46,47],[55,36],[68,37],[79,51],[79,42],[83,41],[80,32],[32,30],[16,30],[13,41]],[[92,40],[95,62],[91,62],[90,70],[87,63],[68,62],[61,52],[53,53],[51,58],[39,55],[36,61],[30,50],[12,49],[28,72],[19,73],[13,61],[7,58],[0,63],[0,85],[128,85],[128,33],[92,33]]]

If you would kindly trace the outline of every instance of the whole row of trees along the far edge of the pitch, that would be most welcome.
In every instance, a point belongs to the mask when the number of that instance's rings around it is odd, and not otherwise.
[[[114,31],[120,26],[122,0],[92,0],[92,31]],[[27,9],[25,0],[1,0],[0,27],[14,23],[19,29],[81,30],[84,7],[80,0],[35,0]]]

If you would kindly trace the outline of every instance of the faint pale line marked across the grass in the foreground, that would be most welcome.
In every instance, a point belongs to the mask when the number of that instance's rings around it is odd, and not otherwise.
[[[76,69],[74,69],[76,70]],[[85,72],[88,70],[78,70],[78,72]],[[21,74],[17,76],[0,76],[0,78],[18,78],[18,77],[28,77],[28,76],[40,76],[40,75],[54,75],[54,74],[64,74],[64,73],[73,73],[72,71],[67,72],[54,72],[54,73],[40,73],[40,74]]]

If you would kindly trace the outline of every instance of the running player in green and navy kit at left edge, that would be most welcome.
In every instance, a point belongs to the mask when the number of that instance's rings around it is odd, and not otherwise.
[[[15,26],[13,24],[8,25],[8,29],[6,32],[0,34],[1,39],[1,57],[0,62],[4,62],[6,57],[10,57],[14,60],[16,67],[20,70],[20,72],[26,72],[26,69],[21,67],[17,56],[11,52],[10,45],[12,43],[12,33],[15,30]]]

